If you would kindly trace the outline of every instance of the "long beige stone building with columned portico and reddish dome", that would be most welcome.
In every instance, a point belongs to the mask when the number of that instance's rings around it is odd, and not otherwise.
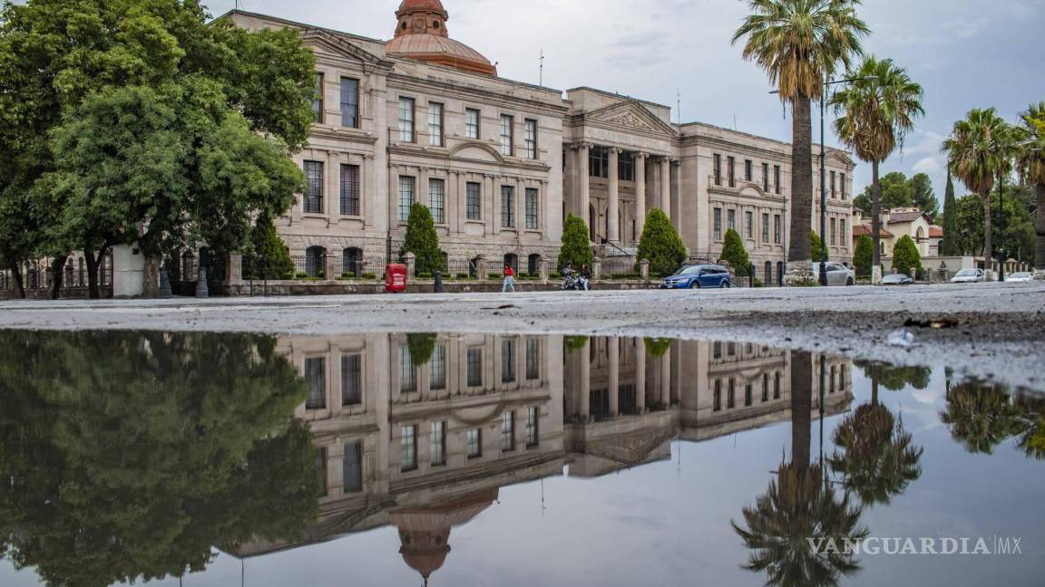
[[[439,0],[403,0],[388,42],[240,10],[226,18],[295,28],[316,53],[316,124],[295,156],[308,191],[277,219],[314,273],[329,257],[344,272],[379,273],[414,202],[432,210],[451,273],[480,255],[536,273],[557,255],[567,213],[588,222],[600,255],[628,266],[653,207],[694,258],[717,259],[734,228],[760,278],[775,282],[783,268],[787,143],[674,123],[669,107],[590,88],[500,77],[449,37]],[[847,260],[854,163],[837,149],[827,163],[831,255]]]

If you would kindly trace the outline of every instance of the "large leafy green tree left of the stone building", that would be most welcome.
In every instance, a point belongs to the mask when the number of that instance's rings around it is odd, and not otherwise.
[[[139,244],[153,295],[164,255],[240,250],[304,187],[288,156],[310,127],[311,52],[296,30],[208,19],[195,0],[3,8],[0,111],[19,123],[0,149],[19,174],[0,192],[46,211],[31,251],[85,252],[92,296],[110,246]]]

